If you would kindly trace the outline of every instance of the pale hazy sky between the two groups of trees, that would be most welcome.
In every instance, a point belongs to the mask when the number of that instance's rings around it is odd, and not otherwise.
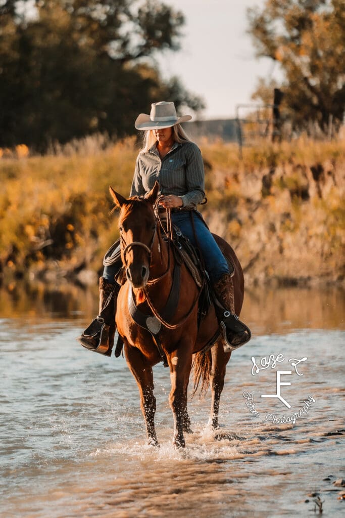
[[[186,19],[178,52],[157,61],[164,78],[176,75],[185,87],[203,97],[201,119],[235,116],[236,105],[250,103],[259,76],[279,77],[268,58],[257,59],[246,33],[248,7],[264,0],[165,0]]]

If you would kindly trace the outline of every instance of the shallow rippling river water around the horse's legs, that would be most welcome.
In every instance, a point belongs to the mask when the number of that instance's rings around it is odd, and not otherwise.
[[[76,341],[95,292],[12,287],[0,303],[1,516],[316,516],[318,496],[324,518],[344,515],[343,291],[248,292],[253,337],[228,364],[220,429],[206,426],[210,394],[194,397],[181,451],[168,369],[154,368],[154,449],[125,359]],[[281,361],[256,372],[271,354]],[[261,397],[279,393],[277,371],[291,371],[280,375],[290,408]]]

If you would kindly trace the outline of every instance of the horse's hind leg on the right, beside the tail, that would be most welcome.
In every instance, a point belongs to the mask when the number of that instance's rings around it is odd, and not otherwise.
[[[224,378],[226,374],[227,363],[229,362],[231,352],[224,353],[221,342],[215,344],[211,350],[212,352],[212,370],[209,375],[209,382],[212,389],[212,401],[211,401],[211,416],[208,424],[211,425],[213,430],[219,428],[218,424],[218,412],[219,412],[219,401],[220,396],[224,387]]]

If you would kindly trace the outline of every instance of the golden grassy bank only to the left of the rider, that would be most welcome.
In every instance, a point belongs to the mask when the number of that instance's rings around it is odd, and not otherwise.
[[[135,157],[127,140],[104,151],[0,160],[0,262],[16,270],[51,258],[95,267],[117,233],[109,185],[128,193]]]

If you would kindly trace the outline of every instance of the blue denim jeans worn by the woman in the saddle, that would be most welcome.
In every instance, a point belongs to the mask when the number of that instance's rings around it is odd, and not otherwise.
[[[172,222],[178,226],[182,234],[188,237],[194,247],[198,247],[203,257],[205,268],[208,272],[211,282],[214,284],[222,275],[229,274],[229,266],[226,258],[220,251],[213,235],[209,232],[207,226],[203,222],[201,216],[195,211],[179,211],[172,212]],[[194,228],[197,234],[198,243],[194,238],[191,216],[194,221]],[[121,267],[121,263],[115,263],[111,266],[105,266],[103,277],[110,284],[115,284],[114,276]]]

